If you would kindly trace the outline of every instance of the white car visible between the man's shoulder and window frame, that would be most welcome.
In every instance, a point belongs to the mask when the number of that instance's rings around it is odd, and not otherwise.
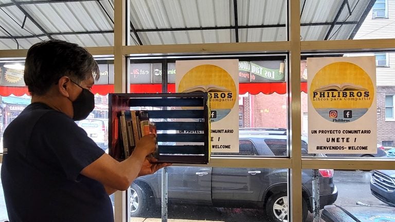
[[[93,139],[101,149],[107,150],[109,139],[108,119],[84,119],[77,124],[85,130],[88,137]]]

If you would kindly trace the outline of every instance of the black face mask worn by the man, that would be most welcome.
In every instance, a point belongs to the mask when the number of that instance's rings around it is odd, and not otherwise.
[[[74,81],[71,82],[78,85]],[[80,85],[78,86],[81,87]],[[74,110],[73,120],[83,120],[88,117],[95,108],[95,95],[93,95],[93,93],[91,93],[91,91],[87,90],[86,88],[82,88],[82,91],[77,99],[71,102],[73,103]]]

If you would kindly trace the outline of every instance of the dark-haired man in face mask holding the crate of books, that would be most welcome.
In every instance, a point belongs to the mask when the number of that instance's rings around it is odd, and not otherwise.
[[[31,104],[4,132],[1,178],[10,222],[113,221],[109,195],[169,165],[147,160],[155,151],[153,134],[118,162],[74,122],[95,107],[91,87],[98,73],[92,55],[76,44],[50,40],[28,50]]]

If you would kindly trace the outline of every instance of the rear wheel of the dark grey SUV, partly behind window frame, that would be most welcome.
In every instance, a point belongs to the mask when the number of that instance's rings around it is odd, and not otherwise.
[[[306,220],[308,213],[306,200],[302,199],[302,219]],[[288,196],[286,192],[272,194],[266,202],[266,214],[268,219],[273,222],[288,222]]]

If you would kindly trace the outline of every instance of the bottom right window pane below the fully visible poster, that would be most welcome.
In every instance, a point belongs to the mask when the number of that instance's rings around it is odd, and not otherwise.
[[[323,170],[314,171],[319,173],[318,177],[312,173],[307,176],[311,179],[310,186],[316,188],[319,178],[319,189],[314,189],[316,192],[312,194],[319,198],[321,211],[316,215],[318,218],[327,222],[395,221],[393,171],[335,170],[333,178],[326,177],[328,173],[322,173]],[[328,186],[329,181],[332,181],[331,186]],[[328,196],[331,191],[337,191],[337,194]],[[316,209],[318,206],[311,207]]]

